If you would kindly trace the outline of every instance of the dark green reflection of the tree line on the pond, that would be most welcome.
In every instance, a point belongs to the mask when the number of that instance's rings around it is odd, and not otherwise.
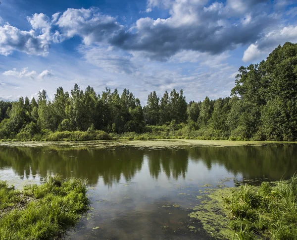
[[[211,171],[214,165],[244,178],[279,180],[290,177],[297,170],[297,146],[294,144],[268,144],[247,147],[193,147],[183,149],[140,149],[134,147],[7,147],[0,146],[1,169],[11,168],[15,175],[46,177],[49,174],[87,178],[91,185],[102,179],[112,186],[121,178],[133,180],[148,162],[151,178],[161,173],[168,179],[185,179],[189,163],[203,163],[199,171]],[[199,165],[200,166],[200,165]]]

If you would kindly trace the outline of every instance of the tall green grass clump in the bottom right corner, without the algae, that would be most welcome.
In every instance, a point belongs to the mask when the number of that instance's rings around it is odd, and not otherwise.
[[[297,176],[260,187],[242,185],[223,200],[235,239],[297,239]]]

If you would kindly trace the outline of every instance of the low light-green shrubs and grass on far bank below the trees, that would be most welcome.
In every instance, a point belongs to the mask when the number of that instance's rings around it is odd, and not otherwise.
[[[42,130],[39,133],[10,133],[9,137],[0,141],[88,141],[88,140],[152,140],[152,139],[198,139],[198,140],[259,140],[246,139],[230,135],[229,132],[200,128],[195,130],[187,124],[169,124],[146,126],[142,133],[137,132],[105,132],[89,128],[87,131],[55,131]]]

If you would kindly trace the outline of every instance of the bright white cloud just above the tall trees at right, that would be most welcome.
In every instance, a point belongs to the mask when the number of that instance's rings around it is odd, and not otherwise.
[[[275,47],[285,42],[297,42],[297,26],[289,25],[268,32],[263,38],[248,46],[243,61],[263,59]]]

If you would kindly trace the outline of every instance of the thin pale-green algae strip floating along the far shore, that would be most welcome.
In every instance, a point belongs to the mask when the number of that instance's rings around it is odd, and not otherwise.
[[[92,140],[92,141],[47,141],[47,142],[21,142],[21,141],[0,141],[0,146],[23,146],[23,147],[39,147],[39,146],[90,146],[90,147],[149,147],[149,148],[171,148],[171,147],[195,147],[195,146],[260,146],[265,144],[291,143],[297,142],[273,142],[273,141],[228,141],[228,140],[191,140],[191,139],[165,139],[165,140]]]

